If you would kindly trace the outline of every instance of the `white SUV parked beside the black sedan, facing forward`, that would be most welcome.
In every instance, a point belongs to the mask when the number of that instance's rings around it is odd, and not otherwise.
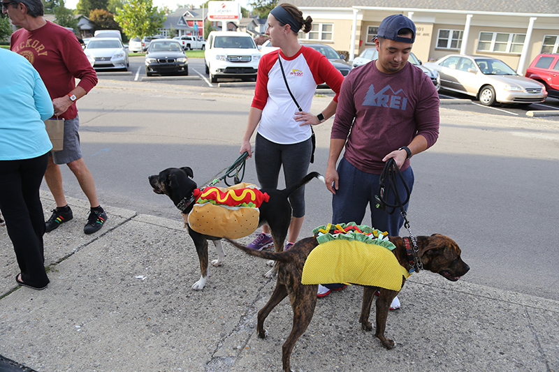
[[[212,31],[205,43],[205,73],[217,77],[249,77],[256,81],[261,53],[245,32]]]

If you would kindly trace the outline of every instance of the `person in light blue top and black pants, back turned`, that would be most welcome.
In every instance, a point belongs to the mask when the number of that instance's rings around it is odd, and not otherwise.
[[[20,54],[0,48],[0,209],[17,264],[19,285],[47,288],[39,187],[52,149],[44,121],[54,114],[38,72]]]

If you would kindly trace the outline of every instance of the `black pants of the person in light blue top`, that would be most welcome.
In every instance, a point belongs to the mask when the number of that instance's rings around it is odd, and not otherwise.
[[[49,283],[45,273],[45,217],[39,187],[48,153],[37,158],[0,161],[0,209],[12,241],[22,281],[34,287]]]

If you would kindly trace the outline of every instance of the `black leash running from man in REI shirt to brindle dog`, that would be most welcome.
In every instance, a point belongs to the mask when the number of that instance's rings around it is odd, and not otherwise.
[[[400,193],[398,191],[398,178],[402,181],[406,190],[406,198],[404,202],[402,202],[402,198],[400,198]],[[394,193],[395,204],[390,204],[386,201],[391,192]],[[377,202],[377,208],[386,211],[388,214],[393,214],[397,208],[400,209],[400,216],[404,218],[404,227],[407,232],[409,232],[409,240],[411,240],[413,244],[413,247],[410,247],[409,242],[406,238],[404,238],[407,256],[409,259],[409,266],[411,267],[409,269],[409,274],[412,274],[414,271],[419,272],[420,270],[423,270],[423,262],[421,262],[421,258],[419,257],[417,241],[412,234],[412,230],[409,230],[409,221],[407,221],[407,214],[404,209],[404,205],[409,201],[410,194],[411,192],[409,191],[409,186],[407,186],[404,176],[402,176],[402,172],[400,172],[400,168],[398,168],[396,161],[393,158],[389,158],[389,160],[384,164],[384,169],[380,174],[379,193],[378,195],[375,195],[375,200]]]

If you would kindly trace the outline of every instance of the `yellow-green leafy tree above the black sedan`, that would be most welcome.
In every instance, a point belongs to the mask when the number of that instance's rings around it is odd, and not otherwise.
[[[117,8],[115,21],[120,24],[124,34],[152,36],[164,24],[164,13],[153,6],[152,0],[129,0],[122,8]]]

